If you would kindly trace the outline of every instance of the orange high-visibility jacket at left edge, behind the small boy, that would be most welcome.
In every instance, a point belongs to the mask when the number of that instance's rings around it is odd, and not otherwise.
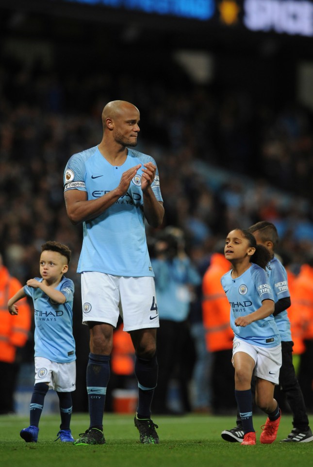
[[[29,339],[32,323],[32,312],[27,299],[23,298],[18,305],[18,315],[8,311],[8,300],[22,287],[21,283],[11,277],[4,266],[0,267],[0,361],[14,363],[16,347],[23,347]]]

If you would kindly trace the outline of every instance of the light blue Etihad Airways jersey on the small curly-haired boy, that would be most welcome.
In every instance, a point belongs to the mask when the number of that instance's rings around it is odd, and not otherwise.
[[[42,282],[42,277],[35,277]],[[35,314],[35,357],[44,357],[57,363],[76,359],[73,337],[74,283],[63,276],[55,287],[66,302],[54,303],[40,288],[24,286],[24,292],[33,299]]]

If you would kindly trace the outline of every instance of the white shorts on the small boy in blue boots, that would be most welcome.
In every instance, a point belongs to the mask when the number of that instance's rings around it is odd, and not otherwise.
[[[35,357],[35,383],[49,383],[49,389],[58,393],[70,393],[76,389],[76,360],[57,363]]]

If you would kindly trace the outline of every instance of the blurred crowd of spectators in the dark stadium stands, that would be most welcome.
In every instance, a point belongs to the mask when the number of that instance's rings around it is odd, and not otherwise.
[[[47,70],[39,61],[26,67],[12,57],[1,60],[0,252],[24,284],[38,276],[43,242],[71,248],[78,359],[88,354],[76,274],[82,232],[66,216],[63,171],[72,154],[99,143],[102,108],[110,100],[139,108],[137,149],[158,165],[162,228],[184,232],[195,262],[209,259],[231,228],[260,220],[277,226],[278,253],[288,252],[296,272],[313,254],[311,111],[294,102],[271,107],[242,90],[194,84],[177,65],[168,75],[175,78],[134,77],[127,70],[120,76],[75,75]],[[156,232],[147,226],[147,234],[152,245]]]

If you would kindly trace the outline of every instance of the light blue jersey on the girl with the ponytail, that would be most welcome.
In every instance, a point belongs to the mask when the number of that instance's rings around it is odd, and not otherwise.
[[[221,284],[231,305],[231,329],[235,336],[259,347],[279,345],[280,333],[273,315],[246,327],[235,325],[236,318],[253,313],[262,306],[263,300],[274,301],[265,270],[251,263],[250,268],[236,279],[232,279],[231,271],[224,274]]]

